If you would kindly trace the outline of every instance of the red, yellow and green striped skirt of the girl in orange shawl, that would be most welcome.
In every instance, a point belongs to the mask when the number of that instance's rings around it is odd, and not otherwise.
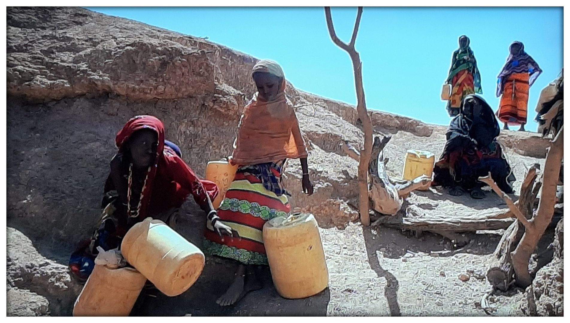
[[[287,215],[290,209],[287,195],[276,195],[258,177],[238,169],[218,208],[218,216],[222,223],[237,230],[241,239],[219,236],[208,222],[203,251],[243,264],[267,265],[263,224],[275,216]]]

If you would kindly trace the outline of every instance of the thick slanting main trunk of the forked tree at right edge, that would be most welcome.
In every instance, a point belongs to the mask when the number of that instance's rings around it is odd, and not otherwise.
[[[544,234],[554,214],[556,203],[556,183],[560,173],[560,163],[564,157],[564,126],[560,128],[556,137],[552,140],[542,177],[542,191],[536,215],[532,218],[530,227],[526,230],[515,251],[512,252],[512,264],[515,269],[516,285],[526,288],[532,283],[532,277],[528,272],[528,260],[534,252],[538,240]]]

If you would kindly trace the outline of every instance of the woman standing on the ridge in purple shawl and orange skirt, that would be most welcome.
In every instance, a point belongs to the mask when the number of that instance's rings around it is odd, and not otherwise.
[[[524,131],[527,123],[528,88],[542,69],[524,52],[523,43],[512,42],[508,50],[510,54],[507,63],[497,80],[496,96],[501,98],[496,115],[504,123],[504,130],[508,130],[508,125],[520,125],[519,130]]]

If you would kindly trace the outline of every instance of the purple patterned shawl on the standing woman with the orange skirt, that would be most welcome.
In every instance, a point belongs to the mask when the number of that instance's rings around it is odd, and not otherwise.
[[[516,50],[515,45],[519,46],[519,50]],[[499,78],[497,80],[497,96],[503,94],[504,80],[512,73],[528,72],[528,86],[532,85],[536,77],[542,73],[542,69],[540,69],[535,60],[524,51],[523,43],[519,41],[512,42],[508,50],[510,54],[508,55],[507,63],[504,64],[503,69],[497,76]]]

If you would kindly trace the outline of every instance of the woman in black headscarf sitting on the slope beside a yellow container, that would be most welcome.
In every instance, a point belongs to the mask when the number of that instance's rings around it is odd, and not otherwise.
[[[496,141],[499,123],[491,107],[478,95],[463,99],[461,112],[449,125],[445,148],[441,159],[434,166],[433,186],[451,187],[449,194],[460,196],[469,191],[472,198],[481,199],[485,194],[478,181],[488,175],[505,193],[513,193],[511,183],[515,181]]]

